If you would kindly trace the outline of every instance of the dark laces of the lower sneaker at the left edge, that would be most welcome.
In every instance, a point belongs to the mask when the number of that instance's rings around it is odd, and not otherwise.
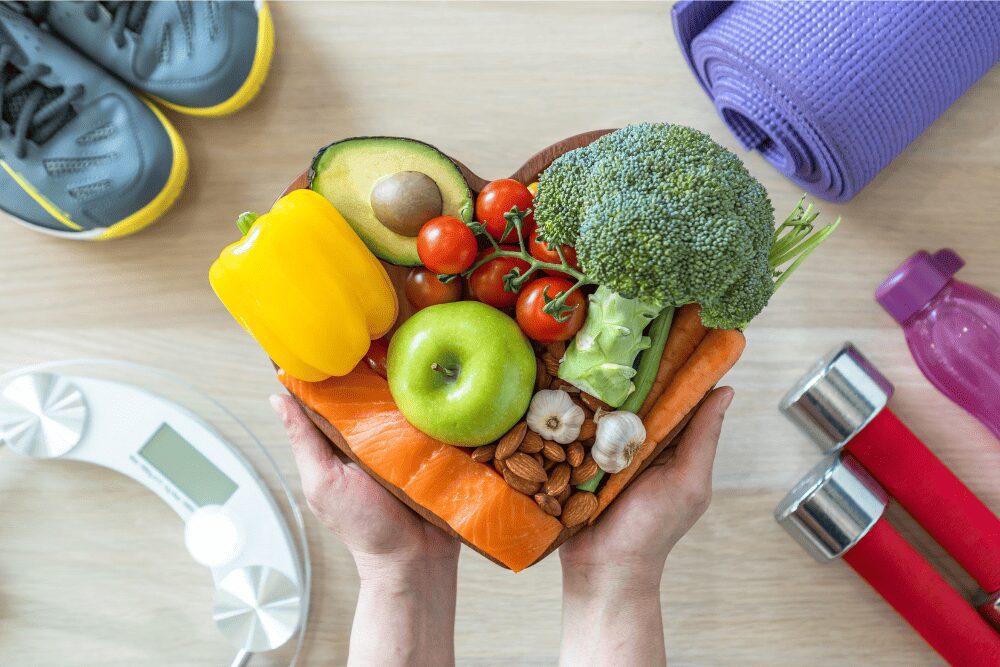
[[[0,44],[0,121],[12,131],[15,155],[24,159],[28,141],[45,143],[76,115],[72,103],[83,86],[46,86],[39,78],[52,71],[48,65],[19,67],[13,55],[10,44]]]

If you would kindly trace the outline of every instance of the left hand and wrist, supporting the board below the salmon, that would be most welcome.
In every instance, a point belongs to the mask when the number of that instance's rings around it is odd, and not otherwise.
[[[350,662],[447,665],[455,661],[459,544],[343,461],[290,396],[272,396],[309,509],[347,546],[361,590]]]

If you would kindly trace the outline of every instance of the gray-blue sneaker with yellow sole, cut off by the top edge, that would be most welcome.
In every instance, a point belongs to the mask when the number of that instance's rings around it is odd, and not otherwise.
[[[222,116],[260,90],[274,51],[261,2],[28,2],[37,22],[164,105]]]

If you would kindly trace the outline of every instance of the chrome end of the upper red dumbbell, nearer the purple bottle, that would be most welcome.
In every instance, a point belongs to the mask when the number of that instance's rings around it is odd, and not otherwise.
[[[837,451],[889,402],[892,383],[858,348],[844,343],[799,378],[778,404],[824,452]]]

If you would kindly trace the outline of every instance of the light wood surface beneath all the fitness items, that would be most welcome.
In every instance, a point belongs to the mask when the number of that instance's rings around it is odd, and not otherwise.
[[[570,134],[669,120],[732,139],[687,71],[662,4],[277,4],[270,81],[252,106],[203,120],[168,112],[191,179],[143,233],[107,244],[53,240],[0,220],[0,371],[100,356],[172,368],[224,399],[297,482],[266,397],[264,355],[206,279],[233,220],[266,209],[320,145],[411,136],[483,176],[510,173]],[[708,514],[670,556],[662,584],[675,665],[938,664],[842,563],[818,565],[774,523],[817,452],[777,412],[784,390],[850,339],[896,384],[893,407],[1000,511],[1000,445],[935,391],[872,299],[918,248],[955,248],[961,277],[1000,292],[1000,69],[994,68],[859,197],[824,204],[844,225],[747,332],[727,381]],[[738,149],[737,149],[738,150]],[[799,191],[744,155],[778,209]],[[971,582],[902,513],[892,517],[963,592]],[[307,665],[346,658],[357,594],[345,549],[311,518],[315,564]],[[0,664],[222,665],[206,573],[173,513],[133,482],[0,449]],[[559,563],[520,574],[466,550],[463,664],[553,664]],[[266,663],[262,663],[266,664]]]

